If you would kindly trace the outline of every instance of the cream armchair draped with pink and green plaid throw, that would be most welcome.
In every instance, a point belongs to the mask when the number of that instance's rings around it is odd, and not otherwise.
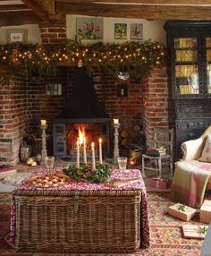
[[[173,201],[198,208],[206,190],[211,189],[210,134],[211,125],[198,139],[181,144],[183,157],[175,163],[171,190]]]

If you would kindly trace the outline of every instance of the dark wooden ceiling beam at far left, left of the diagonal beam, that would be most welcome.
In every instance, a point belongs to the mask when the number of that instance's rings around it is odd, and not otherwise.
[[[14,15],[13,12],[5,12],[4,15],[0,15],[0,27],[3,26],[15,26],[38,23],[40,19],[35,13],[32,12],[18,12],[18,15]]]

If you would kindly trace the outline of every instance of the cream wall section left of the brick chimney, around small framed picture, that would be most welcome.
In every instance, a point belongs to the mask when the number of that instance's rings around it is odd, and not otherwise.
[[[0,44],[4,45],[7,41],[7,30],[24,29],[26,31],[26,42],[28,44],[41,44],[40,30],[38,24],[27,24],[21,26],[9,26],[0,28]]]

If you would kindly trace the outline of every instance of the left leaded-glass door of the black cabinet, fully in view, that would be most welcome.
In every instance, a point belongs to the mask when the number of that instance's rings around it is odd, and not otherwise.
[[[174,38],[174,93],[179,98],[199,95],[198,38]]]

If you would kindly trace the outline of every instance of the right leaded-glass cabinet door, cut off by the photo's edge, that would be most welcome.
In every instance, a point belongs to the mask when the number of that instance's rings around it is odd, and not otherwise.
[[[211,37],[206,38],[206,58],[207,58],[207,83],[205,84],[205,95],[211,97]]]

